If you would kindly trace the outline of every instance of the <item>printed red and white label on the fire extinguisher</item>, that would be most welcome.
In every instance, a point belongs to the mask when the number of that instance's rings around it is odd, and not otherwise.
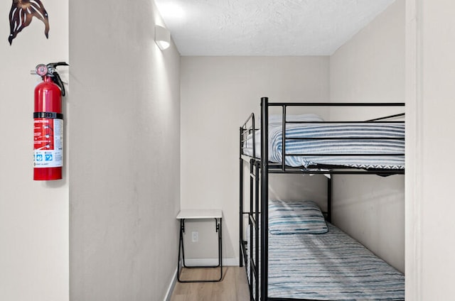
[[[63,166],[63,120],[36,118],[33,122],[33,166]]]

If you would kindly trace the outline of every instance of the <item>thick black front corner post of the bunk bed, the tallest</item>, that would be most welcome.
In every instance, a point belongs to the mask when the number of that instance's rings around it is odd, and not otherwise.
[[[261,299],[267,300],[269,284],[269,99],[261,98]]]

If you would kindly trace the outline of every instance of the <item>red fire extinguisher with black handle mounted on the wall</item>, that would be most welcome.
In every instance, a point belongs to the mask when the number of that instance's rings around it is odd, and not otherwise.
[[[57,66],[66,62],[38,65],[33,73],[43,82],[35,88],[33,111],[33,180],[60,180],[63,167],[62,96],[65,87]]]

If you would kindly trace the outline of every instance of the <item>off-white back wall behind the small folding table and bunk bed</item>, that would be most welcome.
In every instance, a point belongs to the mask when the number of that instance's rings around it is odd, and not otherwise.
[[[328,91],[328,57],[181,58],[181,207],[223,209],[228,263],[239,256],[240,125],[258,113],[260,97],[324,102]]]

